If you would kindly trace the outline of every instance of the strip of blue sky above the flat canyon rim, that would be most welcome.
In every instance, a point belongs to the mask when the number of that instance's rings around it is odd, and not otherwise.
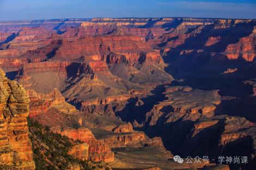
[[[256,18],[256,0],[0,0],[0,20],[92,17]]]

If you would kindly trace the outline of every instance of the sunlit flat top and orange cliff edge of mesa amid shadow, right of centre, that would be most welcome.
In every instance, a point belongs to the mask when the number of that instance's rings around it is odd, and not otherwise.
[[[154,126],[160,122],[175,122],[180,118],[195,121],[200,116],[211,117],[214,115],[216,105],[221,102],[216,91],[192,90],[191,87],[186,86],[167,86],[164,94],[167,99],[148,112],[146,117],[149,124],[145,124]]]

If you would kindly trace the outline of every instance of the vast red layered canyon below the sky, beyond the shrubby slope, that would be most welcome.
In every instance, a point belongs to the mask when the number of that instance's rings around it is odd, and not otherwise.
[[[256,20],[0,21],[0,67],[11,79],[0,81],[29,98],[20,119],[79,141],[70,155],[112,168],[255,169],[255,56]],[[22,162],[33,169],[28,153]],[[221,165],[219,156],[248,163]]]

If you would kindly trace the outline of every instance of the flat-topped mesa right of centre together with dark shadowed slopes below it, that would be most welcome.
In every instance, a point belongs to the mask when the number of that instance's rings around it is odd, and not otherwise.
[[[143,103],[141,107],[131,106],[125,111],[118,112],[118,116],[132,122],[133,127],[143,129],[150,137],[160,135],[165,146],[175,150],[179,147],[180,141],[184,140],[187,130],[191,129],[192,122],[200,117],[215,115],[221,98],[217,91],[192,89],[189,86],[164,86],[163,90],[163,100],[154,104],[145,115],[139,113],[148,103]],[[131,112],[135,114],[130,114]]]

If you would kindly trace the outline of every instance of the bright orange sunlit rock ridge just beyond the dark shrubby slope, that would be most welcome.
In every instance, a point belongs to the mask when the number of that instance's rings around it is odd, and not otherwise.
[[[57,126],[57,123],[54,121],[45,122],[44,119],[38,119],[40,115],[51,116],[51,108],[57,109],[56,114],[60,114],[60,111],[65,113],[77,112],[75,107],[69,105],[65,102],[65,99],[60,94],[57,89],[54,89],[51,93],[45,95],[42,93],[36,93],[33,90],[28,90],[28,95],[31,99],[30,108],[31,114],[29,115],[32,118],[35,118],[41,124],[49,125],[50,127]],[[53,115],[52,115],[53,116]],[[54,117],[54,116],[53,116]],[[48,117],[47,117],[48,118]],[[57,117],[54,117],[55,119]],[[62,123],[62,122],[60,122]],[[75,123],[75,120],[72,120],[72,123]],[[69,124],[69,122],[64,122],[64,124]],[[69,124],[72,126],[72,124]],[[76,124],[78,125],[78,123]],[[81,123],[80,123],[81,125]],[[114,154],[111,151],[111,147],[104,140],[96,140],[92,131],[87,128],[78,128],[78,129],[56,129],[53,131],[61,135],[68,136],[74,140],[80,140],[85,143],[76,145],[70,151],[70,154],[74,155],[76,158],[81,160],[93,160],[93,161],[113,161]]]

